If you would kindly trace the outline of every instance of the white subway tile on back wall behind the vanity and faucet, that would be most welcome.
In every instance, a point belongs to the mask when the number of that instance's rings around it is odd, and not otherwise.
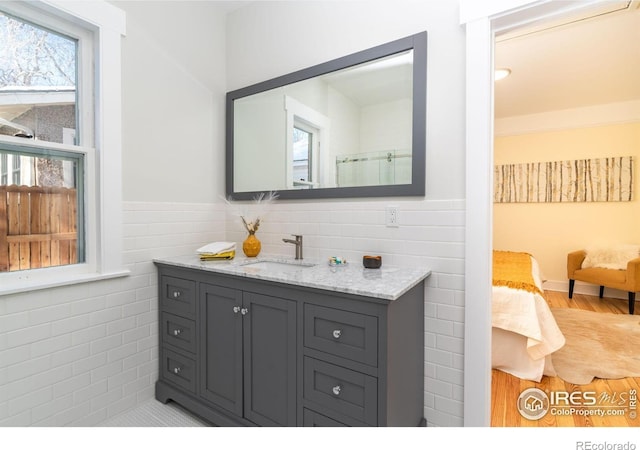
[[[250,210],[247,202],[239,203]],[[385,207],[397,206],[398,228],[385,226]],[[276,202],[257,236],[264,253],[293,257],[282,242],[304,236],[304,257],[343,256],[360,264],[364,254],[382,263],[430,267],[425,288],[424,414],[429,426],[463,425],[464,216],[463,200]],[[234,208],[232,208],[233,210]],[[227,240],[246,237],[229,214]]]

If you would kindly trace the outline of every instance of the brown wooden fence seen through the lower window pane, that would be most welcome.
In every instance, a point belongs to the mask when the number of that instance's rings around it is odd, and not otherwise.
[[[78,262],[76,189],[0,186],[0,272]]]

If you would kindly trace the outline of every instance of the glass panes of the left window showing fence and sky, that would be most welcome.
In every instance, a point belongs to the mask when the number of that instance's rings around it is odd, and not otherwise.
[[[0,272],[85,260],[84,152],[47,145],[77,128],[78,41],[0,11]]]

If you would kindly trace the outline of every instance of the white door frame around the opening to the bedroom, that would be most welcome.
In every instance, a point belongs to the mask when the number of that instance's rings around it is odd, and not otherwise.
[[[604,0],[460,0],[466,31],[464,426],[491,425],[493,57],[495,35]]]

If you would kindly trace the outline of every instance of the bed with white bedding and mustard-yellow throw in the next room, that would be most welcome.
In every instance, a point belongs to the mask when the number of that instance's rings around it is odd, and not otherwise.
[[[528,253],[493,252],[491,366],[539,382],[555,376],[551,354],[565,338],[543,297],[542,276]]]

